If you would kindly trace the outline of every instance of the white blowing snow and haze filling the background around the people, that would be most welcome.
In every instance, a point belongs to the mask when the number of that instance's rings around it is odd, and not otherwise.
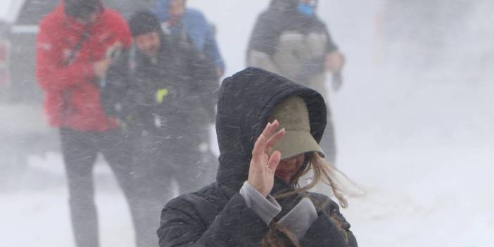
[[[187,3],[215,24],[225,75],[245,68],[269,1]],[[494,246],[493,11],[488,0],[319,1],[346,56],[329,106],[336,165],[365,190],[342,210],[360,246]],[[9,171],[0,246],[73,246],[61,155]],[[102,158],[95,172],[101,246],[133,246],[127,205]]]

